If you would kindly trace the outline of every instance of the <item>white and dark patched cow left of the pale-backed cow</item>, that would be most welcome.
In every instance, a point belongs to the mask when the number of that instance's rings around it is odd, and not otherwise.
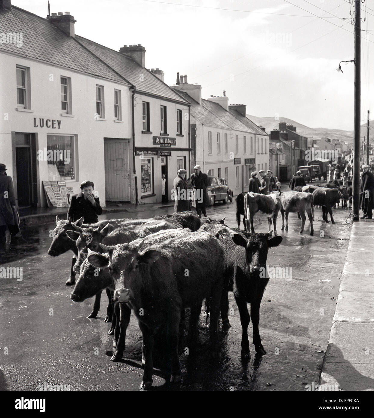
[[[249,222],[251,224],[251,232],[254,232],[253,218],[260,211],[267,215],[269,231],[274,223],[274,235],[277,235],[277,217],[280,209],[280,193],[272,194],[253,193],[252,191],[244,195],[244,222],[246,229],[249,231]]]

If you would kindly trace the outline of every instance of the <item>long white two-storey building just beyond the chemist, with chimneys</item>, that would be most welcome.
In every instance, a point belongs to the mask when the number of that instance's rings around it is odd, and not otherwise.
[[[247,191],[251,171],[269,168],[268,135],[247,119],[245,105],[229,105],[226,92],[202,99],[201,85],[188,83],[186,75],[178,81],[173,89],[191,102],[193,163],[225,178],[234,195]]]

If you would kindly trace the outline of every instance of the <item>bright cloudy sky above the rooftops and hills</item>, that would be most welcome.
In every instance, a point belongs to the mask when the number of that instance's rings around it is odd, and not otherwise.
[[[141,43],[147,68],[201,84],[204,98],[258,117],[279,114],[309,127],[353,129],[353,26],[348,0],[50,0],[75,33],[114,50]],[[361,119],[374,111],[374,2],[362,4]],[[46,17],[46,0],[12,0]],[[368,31],[366,31],[366,29]],[[366,39],[369,39],[367,41]],[[368,54],[369,53],[369,54]],[[369,57],[369,59],[368,59]],[[371,97],[371,103],[369,102]],[[370,107],[371,105],[371,107]]]

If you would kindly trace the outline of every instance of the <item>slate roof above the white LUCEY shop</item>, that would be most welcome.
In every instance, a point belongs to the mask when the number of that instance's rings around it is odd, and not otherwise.
[[[22,46],[15,43],[1,43],[5,50],[24,58],[32,58],[115,82],[127,82],[97,56],[67,36],[47,19],[41,18],[16,6],[2,10],[0,30],[3,33],[22,33]]]

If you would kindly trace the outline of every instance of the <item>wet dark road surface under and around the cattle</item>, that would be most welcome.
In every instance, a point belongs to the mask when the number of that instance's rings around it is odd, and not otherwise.
[[[173,208],[108,214],[100,219],[152,217]],[[237,227],[235,202],[216,204],[208,215]],[[346,257],[351,227],[346,209],[335,209],[335,225],[322,222],[315,208],[314,236],[308,219],[299,234],[297,214],[279,247],[270,248],[269,267],[284,267],[287,277],[271,277],[260,308],[260,334],[267,354],[242,361],[239,312],[229,297],[232,328],[220,326],[220,361],[209,356],[209,326],[202,311],[193,356],[181,354],[182,384],[165,384],[166,372],[155,368],[152,390],[305,390],[318,383]],[[0,278],[0,390],[38,390],[38,385],[70,385],[70,390],[138,390],[142,377],[141,334],[134,314],[127,330],[122,361],[109,361],[112,337],[104,323],[107,297],[103,292],[97,319],[87,319],[93,299],[74,303],[69,275],[71,253],[47,255],[54,224],[25,230],[25,242],[12,244],[0,255],[0,267],[21,267],[22,280]],[[267,232],[267,219],[257,214],[256,232]],[[290,272],[292,269],[292,276]],[[328,281],[326,281],[328,280]],[[331,281],[330,281],[331,280]],[[249,324],[252,342],[252,324]],[[157,362],[155,359],[155,363]],[[156,364],[155,364],[156,366]]]

